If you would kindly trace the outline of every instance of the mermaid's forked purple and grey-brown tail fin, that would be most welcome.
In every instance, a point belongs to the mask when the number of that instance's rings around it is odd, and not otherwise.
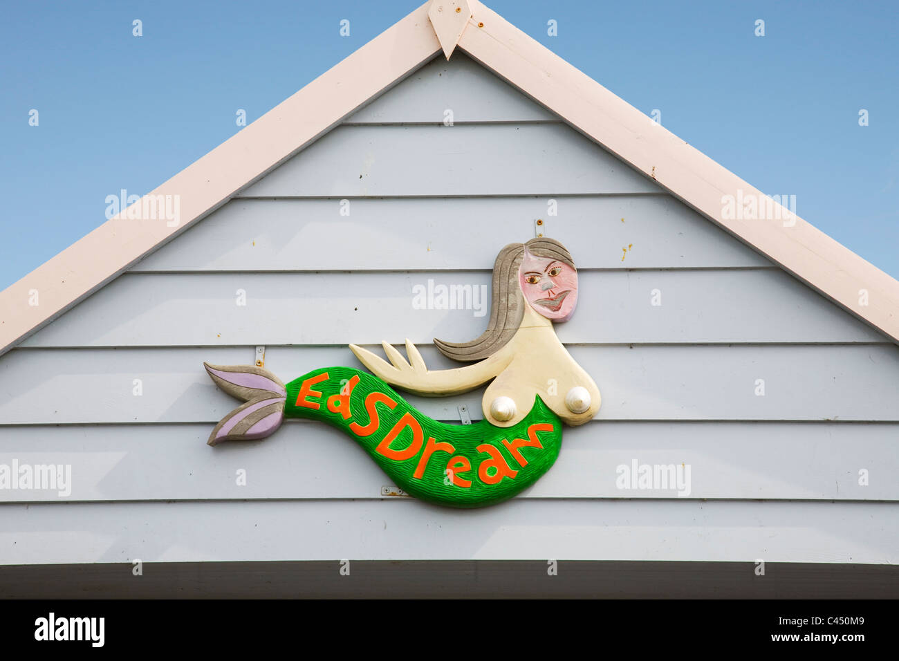
[[[209,445],[222,441],[255,441],[270,436],[284,420],[287,389],[270,371],[255,365],[203,366],[218,388],[245,401],[222,418],[209,434]]]

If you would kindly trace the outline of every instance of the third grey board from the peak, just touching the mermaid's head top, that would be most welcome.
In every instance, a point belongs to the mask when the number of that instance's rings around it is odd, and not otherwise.
[[[667,195],[551,199],[234,200],[130,271],[485,269],[538,218],[581,269],[771,265]]]

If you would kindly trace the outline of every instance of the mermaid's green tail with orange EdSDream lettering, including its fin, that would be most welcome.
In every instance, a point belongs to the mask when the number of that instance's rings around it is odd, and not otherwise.
[[[209,444],[264,438],[284,416],[321,420],[358,442],[397,487],[439,505],[481,507],[516,496],[553,465],[562,442],[562,422],[539,396],[512,427],[444,424],[383,380],[349,367],[310,371],[286,386],[259,368],[207,370],[219,387],[246,400]]]

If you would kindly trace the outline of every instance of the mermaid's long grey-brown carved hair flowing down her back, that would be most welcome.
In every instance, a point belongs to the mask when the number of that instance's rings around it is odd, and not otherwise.
[[[496,255],[494,262],[493,298],[490,301],[490,321],[480,337],[471,342],[444,342],[434,338],[440,352],[456,361],[473,362],[485,359],[503,348],[518,331],[524,317],[524,296],[518,283],[518,270],[525,250],[537,257],[551,257],[574,268],[571,254],[552,238],[532,238],[527,243],[509,244]]]

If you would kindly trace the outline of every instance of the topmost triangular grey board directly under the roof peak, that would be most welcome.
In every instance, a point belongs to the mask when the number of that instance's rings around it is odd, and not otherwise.
[[[444,121],[558,121],[558,116],[459,52],[449,62],[438,55],[343,123]]]

